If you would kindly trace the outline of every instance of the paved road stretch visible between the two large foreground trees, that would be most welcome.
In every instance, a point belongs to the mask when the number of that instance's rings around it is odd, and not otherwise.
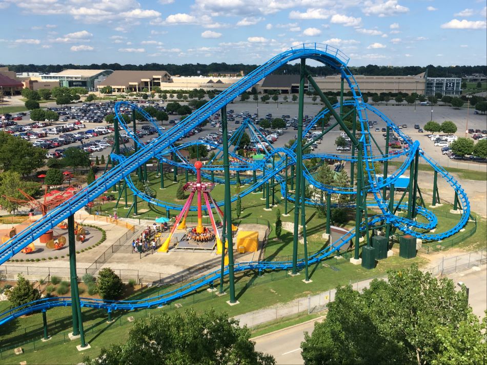
[[[300,325],[269,333],[253,339],[257,351],[269,353],[281,364],[302,364],[301,342],[305,340],[304,332],[313,332],[314,323],[321,321],[319,317],[313,321],[301,323]]]

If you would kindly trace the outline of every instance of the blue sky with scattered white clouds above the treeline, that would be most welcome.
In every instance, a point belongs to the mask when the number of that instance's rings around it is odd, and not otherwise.
[[[485,0],[0,0],[5,64],[261,64],[301,43],[350,65],[485,65]]]

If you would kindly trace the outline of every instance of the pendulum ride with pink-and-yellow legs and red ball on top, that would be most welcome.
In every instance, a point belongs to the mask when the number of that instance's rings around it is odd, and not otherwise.
[[[198,222],[196,227],[192,228],[188,232],[188,237],[194,241],[197,242],[203,242],[203,241],[210,241],[215,239],[216,241],[216,252],[221,253],[222,247],[221,247],[221,239],[220,235],[218,233],[218,229],[216,227],[215,223],[215,218],[213,216],[213,212],[211,211],[211,204],[213,204],[213,207],[215,207],[216,212],[220,218],[220,221],[222,222],[222,216],[223,212],[220,210],[220,208],[216,205],[215,200],[212,198],[210,195],[210,192],[213,190],[215,187],[214,183],[202,183],[201,182],[201,167],[203,164],[201,161],[196,161],[194,163],[194,167],[196,169],[196,182],[190,181],[185,184],[183,189],[185,191],[191,191],[188,199],[185,202],[185,205],[182,207],[181,212],[176,216],[176,221],[174,222],[174,226],[171,229],[171,232],[169,233],[169,236],[164,240],[163,245],[158,249],[159,252],[168,252],[169,250],[169,244],[171,242],[171,238],[175,232],[176,229],[186,229],[186,218],[188,216],[191,204],[193,202],[193,198],[196,195],[197,196],[197,210],[198,210]],[[210,221],[211,221],[211,226],[213,231],[211,231],[208,227],[203,226],[202,222],[202,212],[201,212],[201,207],[202,207],[202,199],[205,199],[205,205],[207,208],[208,215],[210,216]]]

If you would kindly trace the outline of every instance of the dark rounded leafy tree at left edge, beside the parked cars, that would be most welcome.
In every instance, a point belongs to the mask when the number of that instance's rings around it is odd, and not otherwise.
[[[34,109],[36,110],[36,109]],[[26,176],[44,166],[46,151],[29,141],[0,132],[0,169]]]

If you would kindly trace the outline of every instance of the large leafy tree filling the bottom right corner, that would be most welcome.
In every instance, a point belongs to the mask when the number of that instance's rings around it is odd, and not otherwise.
[[[302,357],[313,365],[485,363],[486,322],[465,302],[452,280],[417,265],[374,279],[362,293],[338,288],[327,318],[305,334]]]

